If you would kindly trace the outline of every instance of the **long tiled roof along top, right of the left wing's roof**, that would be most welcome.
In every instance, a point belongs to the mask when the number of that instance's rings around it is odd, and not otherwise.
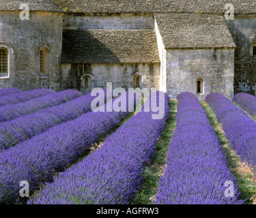
[[[184,12],[225,14],[232,3],[235,14],[256,14],[255,0],[53,0],[70,12],[129,13]]]

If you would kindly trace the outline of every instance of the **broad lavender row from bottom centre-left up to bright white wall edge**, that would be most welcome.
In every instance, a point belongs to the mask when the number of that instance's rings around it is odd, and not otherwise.
[[[154,157],[169,117],[169,96],[162,97],[163,119],[152,119],[153,112],[142,108],[100,149],[47,183],[28,204],[128,204],[140,189],[145,165]]]

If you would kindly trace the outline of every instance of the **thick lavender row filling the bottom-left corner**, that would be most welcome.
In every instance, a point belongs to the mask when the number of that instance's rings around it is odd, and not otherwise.
[[[126,93],[117,98],[124,97]],[[113,104],[115,99],[102,107]],[[87,112],[1,152],[0,203],[14,203],[20,200],[20,181],[29,183],[30,193],[33,193],[40,183],[52,181],[56,172],[64,170],[92,144],[111,133],[128,114],[128,110]]]

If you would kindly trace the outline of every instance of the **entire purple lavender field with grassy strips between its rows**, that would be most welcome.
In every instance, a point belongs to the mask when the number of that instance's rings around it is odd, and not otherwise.
[[[256,97],[141,101],[0,89],[0,204],[256,204]]]

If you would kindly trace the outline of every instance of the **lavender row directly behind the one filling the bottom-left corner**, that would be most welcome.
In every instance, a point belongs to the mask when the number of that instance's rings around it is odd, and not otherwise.
[[[102,102],[106,103],[106,91],[102,97],[104,97]],[[0,127],[0,151],[41,134],[59,123],[76,119],[78,116],[91,111],[91,102],[95,98],[91,96],[91,93],[88,93],[59,106],[40,110],[35,114],[19,116],[17,119],[2,123]]]

